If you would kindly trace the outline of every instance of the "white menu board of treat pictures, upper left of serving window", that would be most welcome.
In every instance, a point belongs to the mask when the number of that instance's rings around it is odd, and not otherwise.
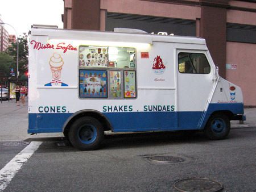
[[[79,47],[79,66],[107,67],[108,48],[107,47]]]

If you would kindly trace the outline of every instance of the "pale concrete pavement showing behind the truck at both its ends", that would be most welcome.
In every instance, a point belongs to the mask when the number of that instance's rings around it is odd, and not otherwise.
[[[245,108],[246,121],[232,121],[232,128],[256,127],[256,108]],[[16,106],[15,99],[0,103],[0,141],[20,141],[36,137],[62,137],[63,133],[28,135],[28,106]]]

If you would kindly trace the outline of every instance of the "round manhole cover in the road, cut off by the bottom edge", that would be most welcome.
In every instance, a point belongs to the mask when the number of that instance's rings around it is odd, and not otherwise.
[[[188,178],[174,183],[174,188],[183,192],[213,192],[221,191],[221,183],[205,178]]]

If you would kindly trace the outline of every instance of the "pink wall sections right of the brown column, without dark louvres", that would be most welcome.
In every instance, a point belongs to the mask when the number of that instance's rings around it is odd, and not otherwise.
[[[230,5],[256,9],[250,2],[230,1]],[[256,12],[227,10],[227,22],[256,25]],[[237,65],[226,70],[226,79],[242,88],[245,106],[256,106],[256,44],[227,42],[226,64]]]

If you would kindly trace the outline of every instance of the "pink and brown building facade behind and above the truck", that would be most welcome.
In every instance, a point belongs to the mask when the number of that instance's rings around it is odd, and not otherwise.
[[[256,1],[254,0],[64,0],[64,28],[149,33],[206,39],[219,73],[256,107]]]

